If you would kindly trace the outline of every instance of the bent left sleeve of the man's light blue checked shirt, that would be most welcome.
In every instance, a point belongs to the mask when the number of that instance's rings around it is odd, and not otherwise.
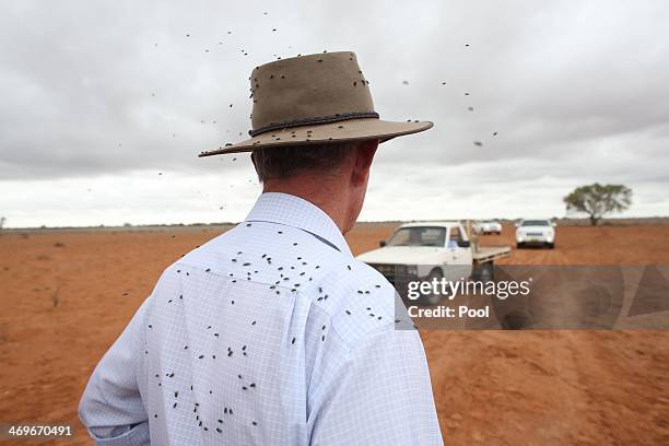
[[[97,444],[150,443],[148,415],[137,376],[144,350],[146,302],[99,361],[79,403],[79,418]]]

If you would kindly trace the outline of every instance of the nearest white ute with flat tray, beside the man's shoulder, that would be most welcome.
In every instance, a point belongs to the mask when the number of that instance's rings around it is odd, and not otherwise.
[[[457,281],[473,278],[488,282],[493,279],[493,261],[507,257],[509,246],[478,246],[469,240],[459,222],[419,222],[402,224],[380,248],[357,256],[379,271],[392,284],[396,274],[413,280]],[[399,279],[399,278],[397,278]],[[431,296],[431,304],[441,296]]]

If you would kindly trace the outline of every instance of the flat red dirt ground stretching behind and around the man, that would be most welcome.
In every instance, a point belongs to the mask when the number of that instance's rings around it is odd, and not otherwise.
[[[395,225],[360,224],[354,254]],[[167,265],[220,228],[0,235],[0,423],[69,423]],[[510,244],[513,228],[482,244]],[[669,265],[669,226],[559,227],[519,265]],[[55,301],[58,305],[55,306]],[[669,444],[669,331],[424,331],[447,444]],[[27,442],[21,442],[27,445]],[[55,444],[55,443],[51,443]]]

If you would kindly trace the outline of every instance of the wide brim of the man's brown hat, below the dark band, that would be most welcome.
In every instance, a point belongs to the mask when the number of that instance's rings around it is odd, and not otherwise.
[[[365,140],[384,142],[396,137],[427,130],[432,126],[434,124],[431,121],[396,122],[376,118],[349,119],[272,130],[236,144],[202,152],[199,156],[250,152],[256,149],[282,145],[310,145]]]

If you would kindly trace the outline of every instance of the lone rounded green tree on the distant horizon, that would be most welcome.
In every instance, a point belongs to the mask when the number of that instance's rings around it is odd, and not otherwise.
[[[564,197],[567,212],[583,212],[597,226],[601,218],[610,212],[622,212],[632,204],[632,189],[623,185],[600,185],[595,183],[580,186]]]

